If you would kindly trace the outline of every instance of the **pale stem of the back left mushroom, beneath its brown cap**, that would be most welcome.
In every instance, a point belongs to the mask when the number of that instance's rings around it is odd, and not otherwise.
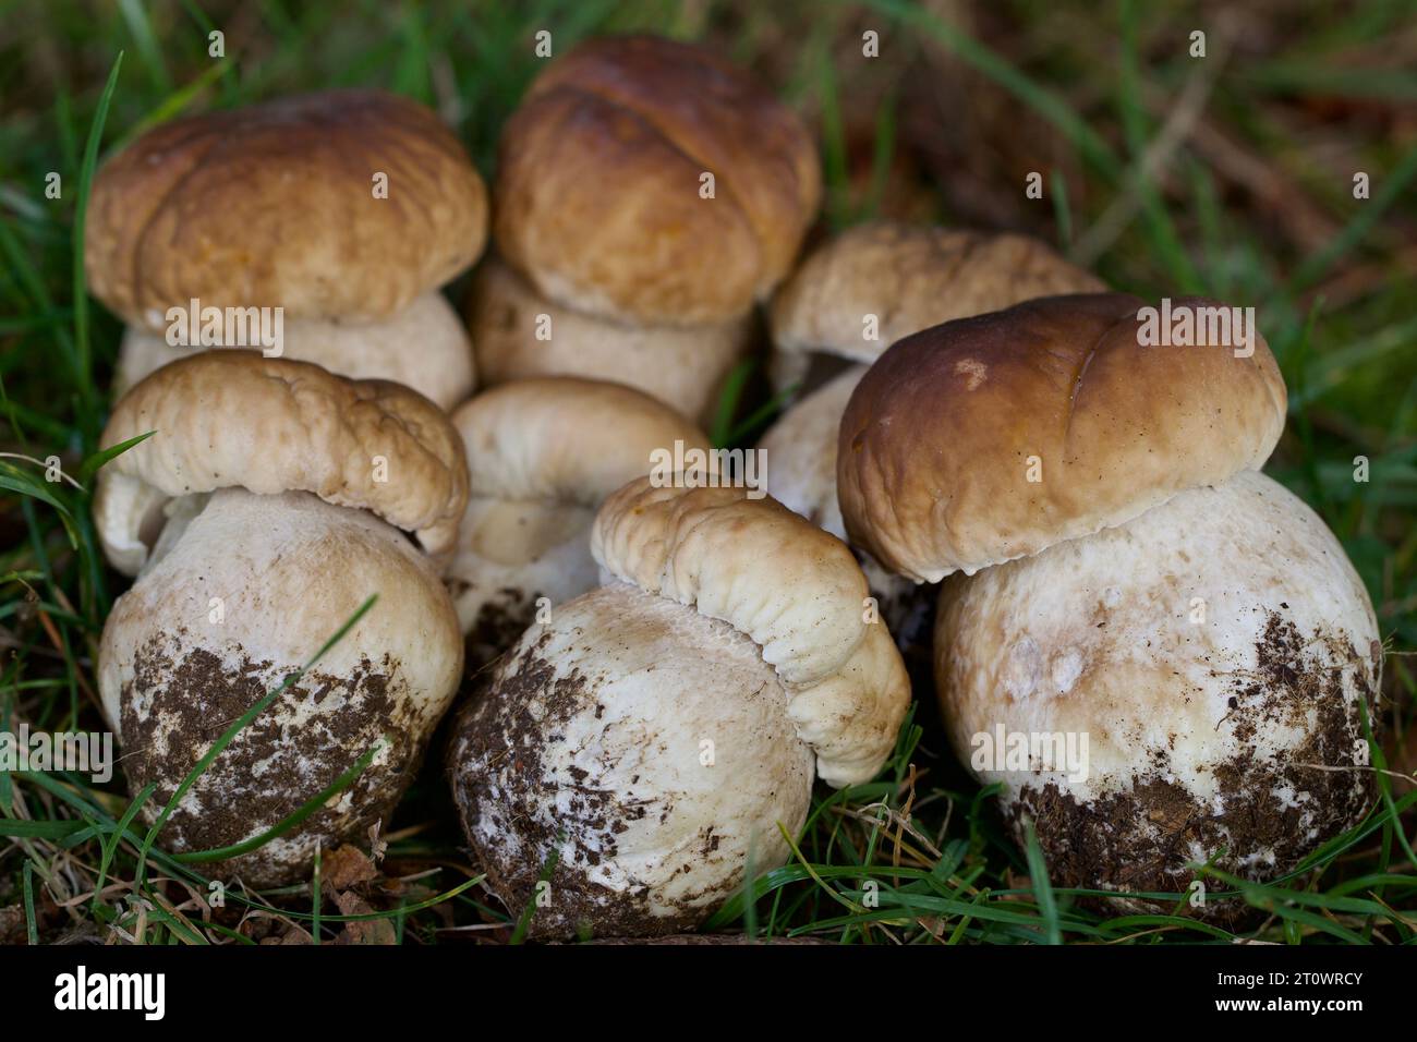
[[[393,380],[438,408],[452,408],[476,383],[468,330],[439,292],[414,298],[380,322],[288,318],[282,325],[281,357],[313,362],[354,380]],[[188,343],[198,340],[190,337]],[[171,346],[164,335],[129,326],[119,347],[113,394],[125,394],[149,373],[200,350]]]

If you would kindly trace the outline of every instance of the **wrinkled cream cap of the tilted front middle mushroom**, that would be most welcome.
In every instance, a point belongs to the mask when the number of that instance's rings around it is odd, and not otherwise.
[[[788,717],[832,785],[873,777],[910,702],[910,680],[852,551],[771,498],[741,488],[631,482],[591,536],[616,578],[728,622],[762,649]]]

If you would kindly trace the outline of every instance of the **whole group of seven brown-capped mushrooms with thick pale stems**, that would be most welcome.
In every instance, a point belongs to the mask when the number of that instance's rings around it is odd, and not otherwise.
[[[446,774],[504,906],[677,934],[785,863],[816,778],[881,770],[901,648],[1060,886],[1169,909],[1197,863],[1268,879],[1355,824],[1376,621],[1260,472],[1263,337],[1149,346],[1142,301],[1009,234],[873,221],[794,272],[820,193],[794,112],[640,35],[537,77],[490,218],[456,138],[378,92],[109,162],[85,267],[129,325],[102,437],[129,447],[94,516],[136,581],[98,678],[164,842],[309,878],[465,688]],[[439,288],[489,220],[469,339]],[[700,424],[769,298],[764,495]],[[281,343],[241,350],[266,309]]]

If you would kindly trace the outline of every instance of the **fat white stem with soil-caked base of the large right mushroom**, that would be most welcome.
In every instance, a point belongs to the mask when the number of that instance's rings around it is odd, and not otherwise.
[[[1220,848],[1221,869],[1274,878],[1372,797],[1367,591],[1323,522],[1253,471],[952,577],[935,656],[959,758],[1005,783],[1020,836],[1033,819],[1056,885],[1183,892]],[[1000,734],[1074,756],[1009,763]]]

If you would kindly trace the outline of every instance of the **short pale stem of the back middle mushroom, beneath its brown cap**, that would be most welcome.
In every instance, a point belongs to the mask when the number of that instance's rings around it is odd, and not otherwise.
[[[466,301],[478,374],[489,386],[580,376],[636,387],[707,422],[734,363],[750,347],[752,316],[711,326],[636,326],[563,308],[496,257],[473,275]]]

